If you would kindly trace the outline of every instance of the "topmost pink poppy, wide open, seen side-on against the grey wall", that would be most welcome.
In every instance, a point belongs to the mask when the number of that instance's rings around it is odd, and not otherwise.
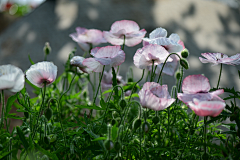
[[[141,43],[146,33],[145,29],[140,30],[138,24],[130,20],[116,21],[109,32],[103,31],[104,38],[112,45],[122,45],[125,35],[125,45],[129,47]]]

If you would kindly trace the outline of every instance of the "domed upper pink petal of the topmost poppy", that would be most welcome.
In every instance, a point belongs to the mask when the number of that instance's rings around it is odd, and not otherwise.
[[[119,30],[125,30],[126,33],[131,33],[134,31],[138,31],[139,29],[140,28],[136,22],[131,20],[121,20],[121,21],[116,21],[112,24],[110,32],[116,33]]]

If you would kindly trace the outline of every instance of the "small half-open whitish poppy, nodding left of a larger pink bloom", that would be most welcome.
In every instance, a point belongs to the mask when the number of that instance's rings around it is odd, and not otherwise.
[[[84,61],[85,58],[81,57],[81,56],[74,56],[71,60],[70,60],[70,64],[72,66],[76,66],[78,67],[78,71],[80,73],[92,73],[92,70],[86,66],[84,66],[82,63]]]

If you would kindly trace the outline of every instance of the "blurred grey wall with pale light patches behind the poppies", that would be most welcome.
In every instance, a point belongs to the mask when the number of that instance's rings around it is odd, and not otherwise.
[[[240,53],[240,0],[0,0],[0,65],[13,64],[26,71],[28,54],[34,62],[43,61],[43,47],[49,42],[48,56],[63,72],[68,54],[76,47],[69,34],[76,27],[109,31],[117,20],[133,20],[146,36],[157,27],[177,33],[190,51],[190,74],[204,74],[216,87],[220,65],[202,64],[201,53],[221,52],[228,56]],[[103,44],[110,45],[110,44]],[[133,66],[135,80],[142,71],[133,65],[133,55],[142,44],[125,47],[126,61],[120,75],[125,77]],[[240,66],[223,65],[220,87],[240,90]],[[169,90],[174,78],[164,75]]]

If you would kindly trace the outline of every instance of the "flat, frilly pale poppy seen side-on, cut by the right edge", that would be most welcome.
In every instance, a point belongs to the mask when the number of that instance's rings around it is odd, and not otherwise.
[[[240,53],[237,53],[234,56],[228,57],[226,54],[223,53],[202,53],[203,57],[199,57],[202,63],[213,63],[213,66],[222,64],[228,65],[239,65],[240,64]]]

